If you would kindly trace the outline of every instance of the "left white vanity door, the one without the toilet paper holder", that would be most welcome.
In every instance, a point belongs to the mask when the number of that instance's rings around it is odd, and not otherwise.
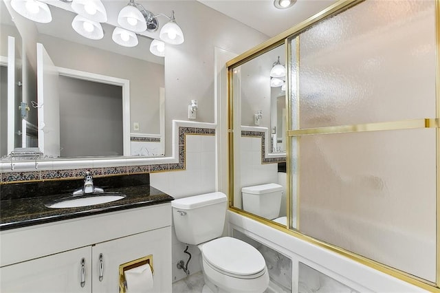
[[[0,268],[1,292],[91,292],[90,246]]]

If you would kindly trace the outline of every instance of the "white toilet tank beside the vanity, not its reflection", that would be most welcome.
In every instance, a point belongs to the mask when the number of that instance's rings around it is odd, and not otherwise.
[[[200,244],[223,233],[227,208],[224,193],[206,193],[175,199],[174,227],[177,239],[187,244]]]

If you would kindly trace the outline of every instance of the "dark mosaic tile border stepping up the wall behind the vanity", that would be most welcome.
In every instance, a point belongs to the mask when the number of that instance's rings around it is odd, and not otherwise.
[[[71,180],[84,177],[86,171],[96,177],[130,175],[142,173],[156,173],[168,171],[183,171],[186,169],[186,140],[185,135],[215,135],[215,129],[200,127],[179,127],[179,162],[172,164],[148,164],[133,166],[116,166],[91,169],[63,169],[50,171],[30,172],[3,172],[0,173],[0,184],[17,182],[34,182],[43,180]],[[160,138],[159,142],[160,142]]]

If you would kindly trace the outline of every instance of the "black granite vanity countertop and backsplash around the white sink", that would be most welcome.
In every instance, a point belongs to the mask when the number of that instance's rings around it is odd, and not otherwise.
[[[144,174],[96,178],[95,186],[104,188],[106,192],[126,195],[125,198],[115,202],[78,208],[47,208],[45,206],[56,199],[72,196],[72,191],[82,184],[83,180],[58,180],[0,186],[0,230],[151,206],[173,200],[170,195],[150,186],[149,175]]]

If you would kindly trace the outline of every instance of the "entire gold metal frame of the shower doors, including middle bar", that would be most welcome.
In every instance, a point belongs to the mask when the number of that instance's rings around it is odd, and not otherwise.
[[[436,95],[436,118],[421,118],[416,120],[401,120],[401,121],[393,121],[393,122],[377,122],[377,123],[366,123],[366,124],[355,124],[355,125],[343,125],[337,127],[319,127],[313,129],[298,129],[298,130],[288,130],[287,137],[289,138],[286,141],[286,155],[287,155],[287,226],[283,226],[274,221],[270,221],[263,217],[259,217],[257,215],[253,215],[244,210],[234,207],[234,109],[233,109],[233,69],[235,67],[239,67],[243,63],[246,63],[253,58],[264,54],[272,50],[274,47],[278,47],[279,45],[285,44],[286,49],[286,59],[287,56],[291,56],[292,47],[289,43],[295,36],[296,37],[296,52],[297,52],[297,61],[299,62],[299,39],[300,32],[303,32],[306,28],[309,28],[314,23],[325,19],[332,14],[336,14],[347,10],[358,3],[361,3],[364,0],[340,0],[333,5],[329,6],[325,10],[318,12],[314,16],[306,19],[305,21],[295,25],[294,27],[274,36],[272,39],[265,41],[261,45],[258,45],[247,52],[233,58],[232,60],[226,63],[226,67],[228,69],[228,109],[229,109],[229,127],[228,127],[228,140],[229,140],[229,210],[237,213],[239,215],[243,215],[245,217],[250,217],[256,221],[259,221],[267,226],[275,228],[277,230],[281,230],[286,232],[289,235],[297,237],[298,239],[302,239],[309,243],[313,243],[322,248],[327,248],[333,252],[337,252],[339,254],[352,259],[353,261],[357,261],[358,263],[362,263],[367,265],[375,270],[380,272],[384,272],[385,274],[389,274],[391,276],[396,277],[397,279],[401,279],[402,281],[406,281],[411,283],[412,285],[416,285],[430,292],[439,292],[440,293],[440,0],[435,1],[435,43],[436,43],[436,78],[435,78],[435,95]],[[297,62],[297,64],[298,64]],[[290,64],[287,63],[287,72],[290,72]],[[287,80],[287,83],[292,82],[292,80]],[[298,83],[298,80],[296,80]],[[291,96],[290,92],[291,87],[287,87],[286,91],[286,105],[289,105],[289,96]],[[298,84],[296,89],[299,89]],[[298,94],[298,93],[297,93]],[[291,106],[291,105],[289,105]],[[292,107],[292,106],[291,106]],[[286,119],[287,128],[290,129],[292,125],[292,117],[290,115],[290,111],[287,111],[287,119]],[[437,166],[437,235],[436,235],[436,281],[430,282],[425,279],[421,279],[412,274],[408,274],[407,272],[397,270],[388,265],[384,265],[383,263],[379,263],[372,259],[368,259],[366,257],[362,257],[360,254],[355,254],[350,252],[349,250],[345,250],[344,248],[340,248],[338,246],[333,246],[329,243],[325,243],[313,237],[309,237],[307,235],[302,234],[299,230],[292,230],[292,219],[291,219],[291,206],[292,206],[292,171],[290,170],[290,160],[289,153],[292,149],[291,138],[302,135],[314,135],[314,134],[330,134],[330,133],[347,133],[347,132],[365,132],[365,131],[384,131],[384,130],[393,130],[393,129],[420,129],[420,128],[434,128],[436,129],[436,166]],[[298,186],[297,186],[298,188]],[[298,203],[299,203],[298,198]],[[297,204],[298,208],[299,204]],[[297,211],[298,212],[298,211]],[[297,213],[299,217],[299,213]],[[299,220],[299,219],[298,219]],[[299,221],[298,221],[299,222]],[[297,227],[299,229],[299,227]]]

